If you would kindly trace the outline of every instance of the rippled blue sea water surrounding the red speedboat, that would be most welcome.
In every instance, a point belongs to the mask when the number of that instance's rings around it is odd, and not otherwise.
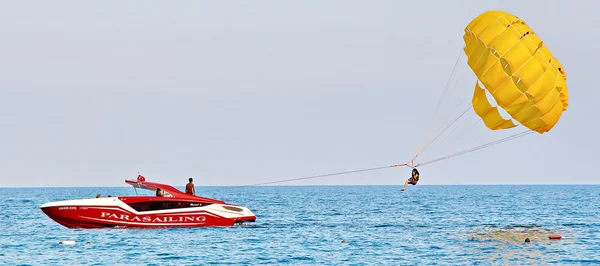
[[[97,193],[131,195],[133,189],[0,188],[0,264],[600,264],[600,186],[399,190],[198,187],[203,196],[249,207],[257,221],[226,228],[81,230],[55,223],[39,205]],[[563,239],[549,240],[549,234]],[[58,244],[65,240],[77,243]]]

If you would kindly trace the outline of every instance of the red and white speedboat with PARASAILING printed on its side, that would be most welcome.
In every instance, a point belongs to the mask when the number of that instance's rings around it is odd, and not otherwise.
[[[234,226],[256,221],[246,207],[146,182],[140,175],[125,183],[132,185],[136,194],[139,188],[155,193],[160,189],[163,195],[64,200],[45,203],[40,209],[68,228]]]

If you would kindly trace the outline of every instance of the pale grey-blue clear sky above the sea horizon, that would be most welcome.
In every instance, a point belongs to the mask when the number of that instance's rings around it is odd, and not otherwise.
[[[126,186],[138,172],[175,186],[188,177],[241,186],[405,163],[440,132],[427,126],[464,27],[490,9],[524,19],[561,61],[569,109],[549,133],[420,167],[419,185],[598,184],[599,6],[5,2],[0,187]],[[458,69],[452,93],[468,100],[474,79],[464,61]],[[503,133],[467,124],[482,141]],[[477,144],[457,136],[417,163]],[[409,175],[397,167],[281,185],[399,185]]]

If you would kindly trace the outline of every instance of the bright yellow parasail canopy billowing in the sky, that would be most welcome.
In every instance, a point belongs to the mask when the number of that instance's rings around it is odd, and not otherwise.
[[[519,124],[540,134],[556,125],[568,107],[567,74],[522,19],[491,10],[465,28],[465,54],[479,82],[512,119],[504,119],[478,82],[473,109],[485,125],[501,130]]]

